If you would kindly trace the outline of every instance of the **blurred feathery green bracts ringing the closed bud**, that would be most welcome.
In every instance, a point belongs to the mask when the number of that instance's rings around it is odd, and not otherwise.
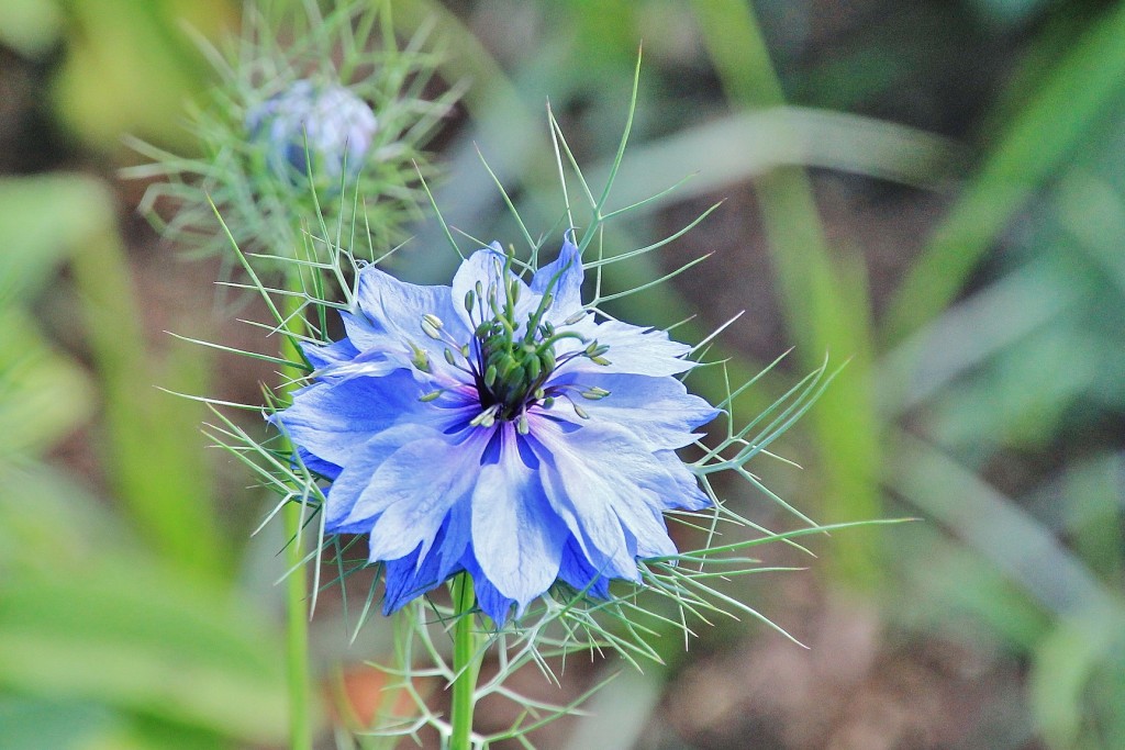
[[[309,174],[324,192],[360,196],[360,204],[332,201],[331,209],[370,234],[367,247],[402,240],[404,222],[418,216],[418,174],[428,173],[423,148],[456,101],[458,90],[440,84],[433,71],[441,58],[425,28],[405,45],[393,31],[392,3],[344,2],[323,13],[313,0],[246,3],[243,30],[222,48],[200,40],[218,82],[207,100],[189,111],[189,127],[202,148],[179,156],[137,139],[130,145],[152,163],[125,175],[156,179],[141,210],[162,234],[199,255],[226,254],[228,240],[215,220],[217,206],[235,243],[244,251],[299,256],[303,223],[315,216],[308,182],[278,179],[267,144],[252,137],[248,115],[297,81],[346,87],[367,102],[378,120],[359,177],[340,184]],[[358,154],[344,154],[356,159]],[[310,168],[312,169],[312,168]],[[334,180],[335,178],[333,178]],[[354,189],[354,192],[352,192]],[[259,263],[276,278],[284,264]]]

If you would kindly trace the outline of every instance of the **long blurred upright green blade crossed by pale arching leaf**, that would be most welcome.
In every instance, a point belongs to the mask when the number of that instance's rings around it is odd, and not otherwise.
[[[692,6],[724,92],[736,107],[784,103],[753,9],[739,0]],[[812,186],[799,168],[788,166],[755,181],[782,308],[798,356],[806,367],[827,354],[849,359],[810,415],[824,467],[825,522],[880,516],[879,426],[872,391],[874,347],[867,279],[857,256],[831,253]],[[879,551],[868,535],[838,542],[842,575],[873,586],[880,579]]]

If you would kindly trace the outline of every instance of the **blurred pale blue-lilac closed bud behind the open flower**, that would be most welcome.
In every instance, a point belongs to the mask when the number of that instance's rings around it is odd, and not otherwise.
[[[299,80],[253,107],[246,129],[267,151],[271,169],[294,184],[314,182],[331,188],[348,171],[356,179],[379,123],[362,99],[338,83]],[[345,166],[346,165],[346,166]]]

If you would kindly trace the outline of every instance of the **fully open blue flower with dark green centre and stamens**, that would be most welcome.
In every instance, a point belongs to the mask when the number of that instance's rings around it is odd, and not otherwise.
[[[272,419],[332,481],[328,532],[368,534],[389,613],[468,571],[504,623],[558,581],[605,598],[675,554],[664,512],[710,501],[676,449],[718,414],[690,349],[583,308],[574,244],[525,283],[500,245],[452,287],[364,266],[346,337]]]

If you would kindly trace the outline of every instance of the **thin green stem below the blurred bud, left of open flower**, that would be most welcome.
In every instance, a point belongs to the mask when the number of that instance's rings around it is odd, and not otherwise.
[[[290,279],[289,288],[296,286],[300,290],[300,279]],[[300,316],[296,315],[299,304],[297,297],[286,297],[285,315],[289,320],[288,331],[300,326]],[[295,338],[286,337],[282,344],[282,355],[294,362],[299,362]],[[303,373],[286,372],[286,381],[295,380]],[[288,391],[288,389],[284,389]],[[312,750],[313,726],[309,712],[309,670],[308,670],[308,612],[306,608],[306,577],[302,560],[305,557],[300,544],[300,525],[304,508],[299,503],[288,503],[281,512],[285,526],[285,539],[289,541],[285,549],[286,569],[291,572],[285,582],[286,600],[286,679],[289,692],[289,743],[292,750]]]

